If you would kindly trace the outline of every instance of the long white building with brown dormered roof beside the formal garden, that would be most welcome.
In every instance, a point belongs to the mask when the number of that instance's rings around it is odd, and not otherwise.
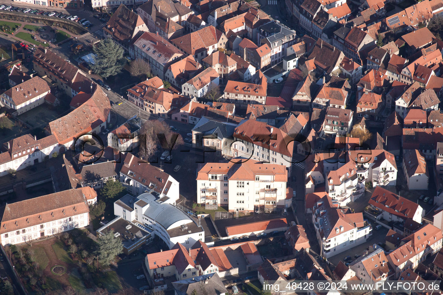
[[[6,204],[0,243],[15,245],[89,225],[89,206],[81,190],[70,189]]]

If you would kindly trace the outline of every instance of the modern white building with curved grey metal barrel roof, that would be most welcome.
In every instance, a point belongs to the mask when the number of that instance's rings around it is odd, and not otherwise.
[[[169,248],[176,243],[191,247],[196,241],[203,241],[203,228],[179,208],[163,203],[162,199],[148,192],[136,198],[125,195],[114,202],[114,214],[148,227],[151,235],[158,236]]]

